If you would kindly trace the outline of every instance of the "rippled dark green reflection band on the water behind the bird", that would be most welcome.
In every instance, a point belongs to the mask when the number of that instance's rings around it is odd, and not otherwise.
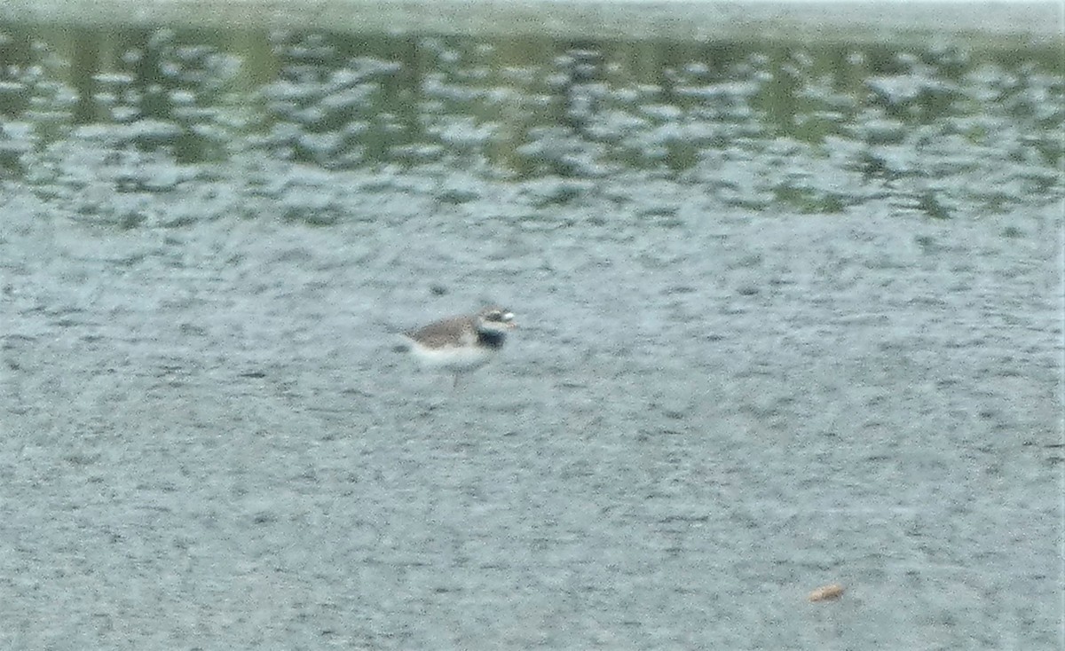
[[[644,170],[698,181],[756,164],[771,181],[753,194],[734,184],[737,202],[759,205],[760,194],[802,212],[861,200],[824,181],[833,166],[888,184],[952,167],[989,173],[988,158],[1028,168],[1011,179],[1021,186],[984,195],[993,211],[1060,191],[1063,70],[1050,45],[0,33],[0,114],[24,127],[5,130],[16,174],[22,153],[91,136],[180,164],[251,153],[327,169],[443,163],[504,179]],[[912,203],[949,215],[938,194],[925,187]]]

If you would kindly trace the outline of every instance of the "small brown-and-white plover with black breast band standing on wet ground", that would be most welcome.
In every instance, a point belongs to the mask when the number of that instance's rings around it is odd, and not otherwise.
[[[424,366],[459,377],[488,364],[503,348],[514,315],[498,306],[485,307],[477,314],[452,317],[425,328],[404,333],[406,348]]]

